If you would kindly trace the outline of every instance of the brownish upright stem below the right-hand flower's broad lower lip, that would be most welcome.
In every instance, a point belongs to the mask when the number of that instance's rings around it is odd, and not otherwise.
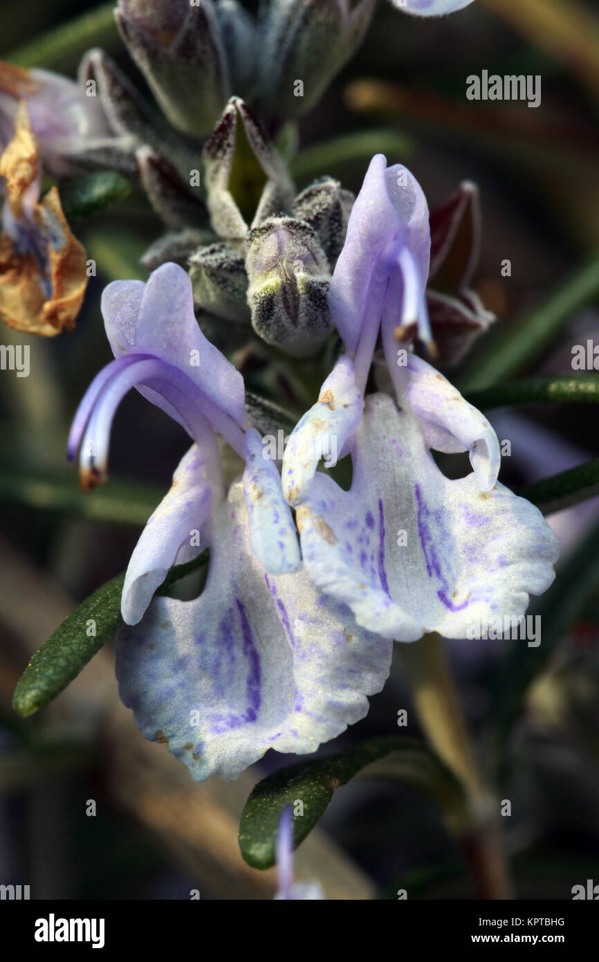
[[[418,720],[438,757],[461,780],[471,813],[462,839],[479,899],[511,899],[493,800],[478,772],[460,702],[437,634],[400,645]]]

